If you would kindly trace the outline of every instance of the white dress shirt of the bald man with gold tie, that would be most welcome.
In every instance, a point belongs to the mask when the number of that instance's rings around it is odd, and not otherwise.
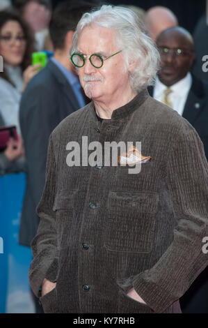
[[[184,112],[184,105],[186,103],[187,96],[191,89],[192,77],[191,73],[188,73],[182,80],[171,85],[170,89],[173,90],[168,96],[170,102],[173,104],[173,110],[176,110],[178,114],[182,115]],[[167,89],[167,86],[163,84],[159,77],[156,77],[153,91],[153,98],[161,101],[163,98],[163,92]]]

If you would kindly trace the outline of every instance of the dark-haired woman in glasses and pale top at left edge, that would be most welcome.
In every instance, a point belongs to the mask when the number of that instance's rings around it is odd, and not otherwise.
[[[0,12],[0,114],[4,124],[19,128],[19,102],[26,84],[38,72],[40,65],[31,66],[34,39],[28,25],[10,10]]]

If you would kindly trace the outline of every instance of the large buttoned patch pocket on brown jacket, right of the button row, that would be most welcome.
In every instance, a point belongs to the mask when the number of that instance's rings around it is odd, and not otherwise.
[[[109,251],[150,253],[154,246],[158,204],[157,193],[110,192],[106,248]]]

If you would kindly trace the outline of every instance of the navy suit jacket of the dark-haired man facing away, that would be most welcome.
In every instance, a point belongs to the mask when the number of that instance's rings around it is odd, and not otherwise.
[[[30,246],[38,229],[39,218],[35,209],[45,185],[49,135],[79,107],[72,87],[52,61],[33,77],[24,91],[19,121],[26,152],[27,176],[19,230],[20,244]]]

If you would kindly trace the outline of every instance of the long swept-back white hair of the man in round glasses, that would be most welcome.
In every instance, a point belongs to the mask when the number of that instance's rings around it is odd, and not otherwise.
[[[143,31],[138,16],[132,10],[104,5],[99,10],[84,13],[77,24],[70,54],[77,51],[81,31],[91,24],[114,29],[126,67],[128,68],[132,61],[136,62],[134,70],[129,73],[132,89],[140,91],[154,83],[160,64],[159,52],[152,39]]]

